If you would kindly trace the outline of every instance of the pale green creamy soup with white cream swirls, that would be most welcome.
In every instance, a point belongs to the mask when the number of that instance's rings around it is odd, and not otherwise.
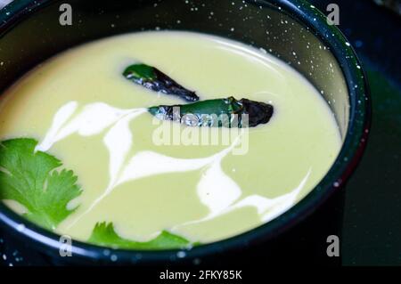
[[[146,108],[185,102],[123,77],[134,62],[201,100],[263,101],[274,115],[250,128],[154,118]],[[45,152],[62,163],[41,183],[27,178],[41,194],[23,188],[26,200],[4,182],[12,170],[1,156],[0,197],[9,207],[74,239],[128,248],[209,243],[269,222],[314,188],[341,144],[326,102],[287,64],[221,37],[172,31],[102,39],[41,64],[1,96],[0,138],[34,139],[31,157]],[[50,179],[63,168],[76,187],[58,191],[63,185]],[[53,199],[63,200],[61,210]]]

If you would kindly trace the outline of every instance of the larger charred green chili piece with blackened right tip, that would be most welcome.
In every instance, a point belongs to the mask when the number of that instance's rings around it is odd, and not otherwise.
[[[233,97],[197,101],[184,105],[160,105],[149,112],[163,120],[173,120],[187,126],[255,127],[272,118],[274,107],[259,101]]]

